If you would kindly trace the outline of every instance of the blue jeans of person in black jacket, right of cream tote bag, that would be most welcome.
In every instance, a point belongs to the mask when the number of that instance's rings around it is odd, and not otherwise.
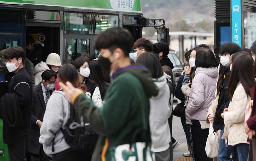
[[[220,131],[220,142],[219,142],[219,150],[218,150],[218,161],[237,161],[236,159],[236,148],[235,146],[226,145],[225,139],[221,139],[224,133],[224,129]],[[230,158],[230,154],[232,158]],[[247,153],[248,155],[248,153]],[[239,159],[240,161],[240,159]]]

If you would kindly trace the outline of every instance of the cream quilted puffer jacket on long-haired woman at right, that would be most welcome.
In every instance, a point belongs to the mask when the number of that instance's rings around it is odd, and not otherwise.
[[[239,82],[234,91],[232,101],[229,103],[228,112],[224,114],[224,134],[222,139],[228,138],[228,145],[248,143],[248,135],[244,130],[245,107],[251,100],[244,91],[243,85]],[[249,144],[249,143],[248,143]]]

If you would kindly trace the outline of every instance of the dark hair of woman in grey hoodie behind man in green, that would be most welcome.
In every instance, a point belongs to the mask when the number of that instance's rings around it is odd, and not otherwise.
[[[149,72],[152,74],[152,78],[160,78],[164,75],[164,70],[159,62],[156,55],[147,52],[141,54],[136,60],[136,64],[142,64],[148,68]]]

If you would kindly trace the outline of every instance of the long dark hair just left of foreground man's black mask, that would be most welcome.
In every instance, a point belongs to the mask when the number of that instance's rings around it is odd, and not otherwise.
[[[103,73],[98,60],[92,60],[90,62],[90,75],[89,78],[92,79],[99,87],[104,84]]]

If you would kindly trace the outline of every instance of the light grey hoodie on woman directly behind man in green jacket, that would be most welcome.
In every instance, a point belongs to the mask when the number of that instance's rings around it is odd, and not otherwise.
[[[161,152],[169,148],[171,133],[168,118],[171,116],[170,89],[166,76],[152,79],[159,89],[158,95],[150,99],[149,126],[154,152]]]

